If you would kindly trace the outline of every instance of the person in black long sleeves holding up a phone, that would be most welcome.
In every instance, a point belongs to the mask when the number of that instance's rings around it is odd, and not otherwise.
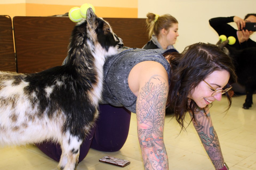
[[[237,29],[233,28],[228,23],[235,22],[237,24]],[[256,22],[256,14],[247,14],[245,19],[238,16],[230,17],[217,17],[209,20],[211,27],[219,34],[226,35],[227,37],[233,36],[236,39],[234,45],[235,49],[240,50],[247,47],[256,47],[256,42],[250,39],[250,35],[254,32],[249,30],[244,30],[247,22]]]

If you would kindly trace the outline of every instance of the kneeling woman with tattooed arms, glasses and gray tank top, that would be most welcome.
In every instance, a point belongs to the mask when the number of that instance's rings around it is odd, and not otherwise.
[[[65,61],[64,61],[65,63]],[[89,150],[117,151],[126,141],[130,112],[137,114],[139,144],[145,169],[168,169],[163,141],[166,106],[174,108],[181,128],[186,112],[215,169],[226,169],[209,107],[235,82],[231,59],[217,46],[197,43],[184,52],[175,49],[126,48],[107,58],[104,66],[104,90],[97,125],[81,146],[79,161]],[[231,105],[231,98],[226,93]],[[152,140],[148,140],[152,139]],[[188,141],[189,142],[189,141]],[[59,161],[61,149],[54,143],[38,147]]]

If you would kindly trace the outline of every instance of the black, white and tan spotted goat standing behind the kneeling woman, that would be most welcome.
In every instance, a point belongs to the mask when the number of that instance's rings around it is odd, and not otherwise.
[[[0,146],[55,141],[62,148],[58,168],[75,169],[98,116],[105,58],[122,47],[89,8],[74,27],[65,65],[35,74],[0,72]]]

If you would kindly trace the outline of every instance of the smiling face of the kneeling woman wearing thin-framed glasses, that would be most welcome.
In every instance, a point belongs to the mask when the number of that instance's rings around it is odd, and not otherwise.
[[[215,88],[215,90],[219,90],[227,85],[229,77],[230,74],[226,70],[214,71],[205,79],[205,81]],[[208,84],[201,81],[198,86],[188,95],[188,97],[193,99],[198,107],[204,108],[215,100],[221,100],[221,93],[217,94],[216,96],[211,96],[213,92],[214,90],[211,89]]]

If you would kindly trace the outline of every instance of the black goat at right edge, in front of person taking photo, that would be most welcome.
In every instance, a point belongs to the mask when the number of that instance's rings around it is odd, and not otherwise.
[[[226,40],[217,45],[231,57],[237,74],[237,82],[245,87],[246,99],[244,109],[249,109],[253,104],[253,92],[256,90],[256,47],[236,50],[228,46]],[[227,45],[227,46],[226,46]]]

